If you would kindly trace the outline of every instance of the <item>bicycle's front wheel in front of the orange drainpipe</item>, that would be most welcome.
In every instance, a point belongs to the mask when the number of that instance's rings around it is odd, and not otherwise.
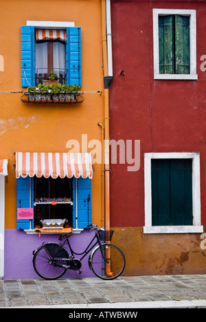
[[[124,253],[111,244],[94,249],[89,261],[93,273],[102,280],[114,280],[122,274],[126,264]]]

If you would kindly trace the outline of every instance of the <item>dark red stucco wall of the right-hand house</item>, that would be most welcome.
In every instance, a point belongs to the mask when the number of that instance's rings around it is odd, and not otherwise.
[[[196,10],[198,80],[155,80],[152,9]],[[144,226],[144,153],[199,152],[201,221],[206,225],[205,1],[111,1],[113,83],[111,139],[140,140],[140,169],[111,164],[111,226]],[[122,75],[120,74],[122,71]]]

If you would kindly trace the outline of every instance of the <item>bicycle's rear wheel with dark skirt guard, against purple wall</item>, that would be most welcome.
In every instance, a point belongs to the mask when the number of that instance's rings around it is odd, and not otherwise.
[[[65,248],[55,243],[45,244],[34,253],[34,271],[44,280],[56,280],[67,271],[65,267],[56,266],[56,264],[66,264],[61,260],[62,258],[69,258]]]

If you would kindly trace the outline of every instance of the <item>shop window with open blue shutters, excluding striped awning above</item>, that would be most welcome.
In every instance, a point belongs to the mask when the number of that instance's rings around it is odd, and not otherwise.
[[[83,229],[91,223],[91,179],[19,177],[16,207],[34,210],[34,219],[17,219],[18,230],[34,230],[45,219],[67,219],[73,229]]]

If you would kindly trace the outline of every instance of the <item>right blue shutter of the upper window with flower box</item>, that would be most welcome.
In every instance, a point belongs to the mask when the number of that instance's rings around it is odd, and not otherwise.
[[[66,42],[67,84],[82,86],[81,28],[67,27]]]

